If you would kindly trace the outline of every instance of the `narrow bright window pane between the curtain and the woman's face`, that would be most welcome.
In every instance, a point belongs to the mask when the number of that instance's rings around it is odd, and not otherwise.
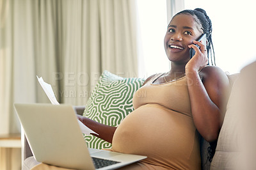
[[[164,50],[164,35],[167,29],[166,1],[138,0],[143,64],[140,76],[168,72],[169,64]],[[144,65],[144,66],[143,66]]]

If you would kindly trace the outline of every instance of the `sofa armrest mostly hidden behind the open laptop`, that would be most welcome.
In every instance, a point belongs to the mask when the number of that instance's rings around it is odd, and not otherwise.
[[[84,105],[74,105],[73,106],[73,109],[76,112],[76,114],[80,114],[80,115],[83,115],[84,108],[85,108]],[[22,134],[22,135],[24,135],[24,137],[23,137],[24,144],[22,145],[22,147],[23,147],[22,148],[22,158],[23,158],[23,160],[25,160],[26,158],[33,156],[33,153],[29,147],[26,135],[25,134]]]

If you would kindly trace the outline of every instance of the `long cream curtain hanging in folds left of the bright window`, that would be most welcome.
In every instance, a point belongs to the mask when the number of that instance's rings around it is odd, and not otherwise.
[[[14,102],[49,102],[36,75],[72,105],[86,104],[103,70],[136,76],[134,1],[1,0],[0,134],[20,132]]]

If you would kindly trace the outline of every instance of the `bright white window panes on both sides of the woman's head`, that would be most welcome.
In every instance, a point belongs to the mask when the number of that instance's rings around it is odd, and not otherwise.
[[[255,5],[253,1],[184,0],[185,9],[203,8],[212,20],[212,42],[216,65],[224,72],[237,73],[256,60]],[[139,0],[141,33],[140,75],[167,72],[168,59],[163,39],[166,32],[166,1]],[[142,74],[141,74],[142,72]]]

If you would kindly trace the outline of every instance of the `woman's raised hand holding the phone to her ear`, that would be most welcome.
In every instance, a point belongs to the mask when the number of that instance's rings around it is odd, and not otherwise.
[[[185,68],[186,70],[194,70],[198,72],[208,64],[207,49],[201,42],[193,41],[193,43],[198,45],[200,48],[196,47],[195,44],[188,45],[189,48],[195,49],[195,56],[188,61]]]

